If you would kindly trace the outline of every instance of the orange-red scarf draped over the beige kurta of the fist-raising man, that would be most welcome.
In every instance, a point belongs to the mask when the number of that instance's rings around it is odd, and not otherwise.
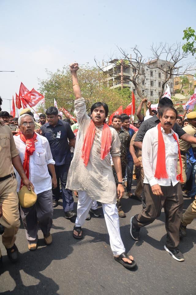
[[[82,146],[82,159],[85,166],[87,166],[89,162],[89,157],[90,157],[90,152],[91,152],[94,137],[95,137],[95,124],[91,120],[85,135],[83,146]],[[101,160],[103,160],[105,156],[107,156],[108,152],[110,151],[110,148],[111,148],[111,131],[110,131],[110,128],[107,126],[107,124],[104,123],[104,128],[103,128],[102,137],[101,137]]]

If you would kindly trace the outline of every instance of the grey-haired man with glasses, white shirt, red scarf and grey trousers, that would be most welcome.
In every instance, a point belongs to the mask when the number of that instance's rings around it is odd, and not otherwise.
[[[35,125],[32,116],[24,114],[19,117],[20,134],[14,136],[17,149],[20,151],[23,168],[31,182],[34,183],[37,195],[36,203],[29,208],[21,207],[21,218],[28,240],[28,249],[36,250],[38,228],[43,232],[44,241],[51,244],[52,236],[52,187],[57,187],[57,179],[48,140],[34,132]],[[48,169],[51,172],[49,175]],[[17,192],[22,186],[20,175],[15,171],[18,182]],[[39,225],[38,225],[39,224]]]

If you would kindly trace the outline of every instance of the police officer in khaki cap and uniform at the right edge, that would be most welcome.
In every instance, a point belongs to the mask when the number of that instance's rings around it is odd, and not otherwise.
[[[188,119],[188,125],[183,127],[183,130],[186,133],[196,137],[196,112],[190,112],[187,115],[187,119]],[[187,152],[189,148],[191,147],[191,143],[180,139],[179,146],[180,146],[180,154],[181,154],[182,164],[183,164],[183,180],[184,180],[184,182],[181,184],[184,184],[187,182],[187,176],[186,176]],[[192,148],[193,150],[196,150],[196,144],[192,144]],[[177,172],[178,174],[180,173],[179,159],[178,159]]]

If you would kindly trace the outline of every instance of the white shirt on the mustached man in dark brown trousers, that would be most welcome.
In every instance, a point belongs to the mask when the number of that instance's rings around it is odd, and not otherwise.
[[[157,125],[158,126],[158,125]],[[169,134],[165,134],[164,129],[161,127],[165,143],[165,163],[168,178],[157,179],[154,177],[156,170],[156,159],[158,151],[158,128],[154,127],[148,130],[144,136],[142,143],[142,165],[144,168],[144,183],[149,183],[152,187],[155,184],[162,186],[170,186],[171,183],[175,186],[179,181],[177,177],[177,160],[178,160],[178,144],[173,138],[175,133],[170,129]],[[178,135],[175,133],[177,139]]]

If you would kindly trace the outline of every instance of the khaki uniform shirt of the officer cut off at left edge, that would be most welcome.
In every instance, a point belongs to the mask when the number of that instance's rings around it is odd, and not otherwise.
[[[8,125],[0,125],[0,177],[13,173],[12,158],[19,155],[12,131]]]

